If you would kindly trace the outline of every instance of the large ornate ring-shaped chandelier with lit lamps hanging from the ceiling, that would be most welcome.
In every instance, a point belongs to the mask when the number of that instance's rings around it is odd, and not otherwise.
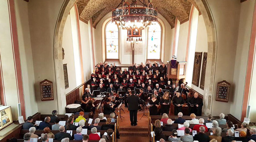
[[[143,7],[137,7],[137,0],[132,0],[131,4],[128,4],[127,0],[121,0],[121,3],[112,11],[112,22],[115,22],[118,27],[127,29],[127,37],[141,37],[143,29],[157,22],[158,12],[152,0],[148,0],[148,5],[145,0],[143,2],[139,0],[139,2]],[[120,6],[122,7],[119,8]]]

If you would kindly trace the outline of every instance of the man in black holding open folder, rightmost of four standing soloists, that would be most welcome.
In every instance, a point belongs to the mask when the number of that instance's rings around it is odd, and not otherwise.
[[[203,100],[198,97],[198,93],[196,92],[194,97],[191,97],[188,100],[189,113],[194,113],[196,116],[202,116],[203,105]]]

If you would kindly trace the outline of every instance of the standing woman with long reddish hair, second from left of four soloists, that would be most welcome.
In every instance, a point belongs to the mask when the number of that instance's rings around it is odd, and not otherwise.
[[[163,115],[164,113],[166,113],[167,115],[169,114],[170,102],[171,102],[170,94],[169,92],[166,91],[164,92],[164,96],[163,98],[161,98],[161,101],[160,101],[161,115]]]

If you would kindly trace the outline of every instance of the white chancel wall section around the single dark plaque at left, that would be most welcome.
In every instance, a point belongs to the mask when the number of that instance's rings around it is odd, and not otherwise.
[[[62,47],[64,48],[65,53],[63,64],[67,64],[69,85],[69,87],[65,89],[65,94],[69,93],[74,88],[76,88],[76,71],[70,20],[70,15],[68,15],[68,18],[64,26],[62,39]]]

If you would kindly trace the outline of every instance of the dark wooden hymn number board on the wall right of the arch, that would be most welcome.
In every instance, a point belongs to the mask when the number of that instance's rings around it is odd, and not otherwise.
[[[216,101],[228,102],[229,90],[230,83],[228,83],[226,80],[218,82]]]

